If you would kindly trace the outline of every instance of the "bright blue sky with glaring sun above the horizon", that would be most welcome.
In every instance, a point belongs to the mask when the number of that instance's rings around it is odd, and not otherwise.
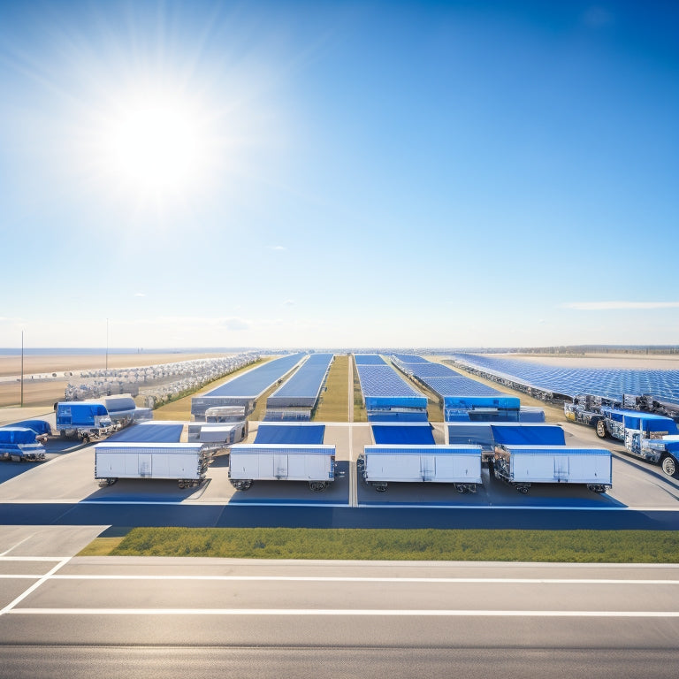
[[[0,347],[679,341],[679,6],[0,4]]]

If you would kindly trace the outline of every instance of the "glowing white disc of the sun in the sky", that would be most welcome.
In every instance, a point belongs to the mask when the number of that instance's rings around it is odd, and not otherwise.
[[[201,116],[171,96],[146,95],[121,105],[102,141],[103,163],[141,196],[186,194],[209,161]]]

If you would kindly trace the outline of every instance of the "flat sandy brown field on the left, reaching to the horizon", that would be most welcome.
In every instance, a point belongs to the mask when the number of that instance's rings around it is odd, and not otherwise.
[[[212,358],[225,354],[109,354],[109,368],[133,368],[141,365],[159,365],[191,361],[195,358]],[[103,370],[104,355],[36,355],[24,356],[24,405],[52,405],[64,398],[70,378],[64,372],[76,370]],[[31,374],[56,372],[50,381],[32,381]],[[18,376],[21,373],[20,356],[0,355],[0,377]],[[21,389],[18,380],[0,382],[0,408],[18,406]]]

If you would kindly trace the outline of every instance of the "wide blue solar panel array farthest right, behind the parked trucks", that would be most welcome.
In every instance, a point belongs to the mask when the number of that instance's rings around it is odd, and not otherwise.
[[[652,393],[660,401],[679,403],[679,370],[564,368],[477,354],[455,354],[452,358],[498,378],[568,396],[593,393],[620,399],[623,393]]]

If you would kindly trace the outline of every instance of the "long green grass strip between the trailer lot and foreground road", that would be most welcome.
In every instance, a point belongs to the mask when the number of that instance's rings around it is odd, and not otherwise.
[[[674,530],[135,528],[111,555],[376,561],[677,563]]]

